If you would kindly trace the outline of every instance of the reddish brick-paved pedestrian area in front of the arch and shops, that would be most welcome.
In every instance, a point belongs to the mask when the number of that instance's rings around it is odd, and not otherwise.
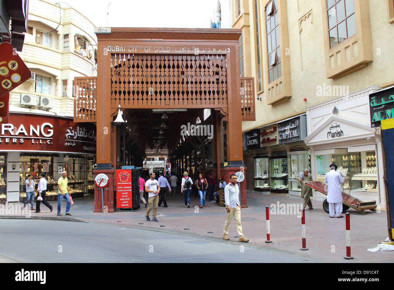
[[[89,222],[105,223],[111,225],[143,226],[163,230],[177,230],[180,232],[190,232],[205,236],[221,237],[225,223],[225,208],[217,206],[215,203],[206,201],[206,207],[199,208],[199,197],[191,196],[191,208],[184,208],[183,196],[167,197],[169,208],[159,208],[158,223],[146,221],[145,208],[141,203],[141,210],[138,212],[121,211],[116,213],[94,213],[93,196],[74,199],[71,208],[73,218],[82,219]],[[278,196],[263,195],[261,193],[247,192],[247,202],[249,208],[242,209],[242,230],[250,243],[263,245],[273,249],[282,249],[299,254],[301,247],[301,219],[296,214],[271,214],[271,240],[266,244],[266,219],[265,206],[272,208],[272,204],[301,204],[301,198],[284,198]],[[54,206],[54,211],[49,212],[45,206],[41,207],[41,213],[32,215],[56,217],[56,202],[50,202]],[[372,212],[366,214],[355,210],[348,210],[351,217],[351,254],[353,260],[345,260],[345,218],[330,219],[322,208],[322,202],[312,201],[314,210],[307,210],[305,213],[307,247],[305,255],[330,260],[332,262],[365,263],[365,262],[394,262],[393,252],[370,253],[367,248],[374,248],[387,238],[387,213],[386,211]],[[62,204],[64,216],[65,202]],[[279,210],[278,210],[279,211]],[[278,213],[281,213],[280,211]],[[59,218],[63,218],[59,217]],[[152,211],[151,211],[152,217]],[[142,224],[142,225],[140,225]],[[165,227],[160,227],[163,225]],[[189,230],[184,230],[188,228]],[[208,233],[213,232],[213,233]],[[238,236],[234,220],[230,225],[229,238]],[[264,261],[262,261],[264,262]]]

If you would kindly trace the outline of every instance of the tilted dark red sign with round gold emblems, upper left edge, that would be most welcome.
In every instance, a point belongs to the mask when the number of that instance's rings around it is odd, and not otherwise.
[[[30,77],[32,73],[17,54],[17,50],[7,42],[0,44],[0,96],[7,94]]]

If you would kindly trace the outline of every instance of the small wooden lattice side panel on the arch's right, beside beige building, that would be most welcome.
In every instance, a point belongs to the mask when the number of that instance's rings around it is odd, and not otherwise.
[[[254,78],[240,79],[242,121],[256,121]]]

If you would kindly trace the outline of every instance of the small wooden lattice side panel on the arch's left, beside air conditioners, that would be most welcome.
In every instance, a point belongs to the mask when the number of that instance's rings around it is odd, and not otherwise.
[[[96,122],[97,78],[74,79],[74,122]]]

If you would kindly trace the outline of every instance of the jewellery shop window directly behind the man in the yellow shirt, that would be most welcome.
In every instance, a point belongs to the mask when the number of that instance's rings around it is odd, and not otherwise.
[[[72,197],[84,196],[84,178],[87,174],[84,167],[84,158],[69,157],[64,159],[64,171],[67,171],[67,180]]]

